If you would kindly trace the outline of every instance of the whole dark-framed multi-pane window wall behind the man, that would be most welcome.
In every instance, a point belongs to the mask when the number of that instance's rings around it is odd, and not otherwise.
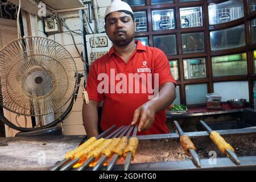
[[[180,94],[174,103],[205,104],[205,94],[216,85],[217,91],[234,92],[255,81],[256,0],[126,2],[133,3],[138,24],[135,40],[161,49],[170,60]],[[226,88],[233,83],[236,88]],[[249,97],[248,89],[239,92]]]

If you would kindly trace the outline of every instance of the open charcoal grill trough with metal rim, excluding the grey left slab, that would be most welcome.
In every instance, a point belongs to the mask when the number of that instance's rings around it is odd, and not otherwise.
[[[129,130],[129,128],[127,127],[126,130]],[[179,134],[138,136],[139,146],[129,169],[256,169],[256,127],[220,130],[218,132],[225,138],[226,142],[231,144],[235,152],[229,151],[227,155],[222,154],[216,144],[209,138],[208,131],[186,133],[197,149],[194,153],[191,153],[191,156],[184,154],[180,144],[180,132]],[[115,165],[112,161],[113,157],[108,160],[106,166],[102,167],[101,170],[109,170],[109,165],[112,165],[111,169],[118,171],[123,170],[123,166],[127,166],[127,161],[123,158],[118,159],[114,163]],[[92,161],[89,160],[89,163],[92,163]],[[93,167],[88,167],[89,163],[83,169],[93,170]],[[67,164],[65,166],[67,167]],[[77,169],[72,168],[72,170]]]

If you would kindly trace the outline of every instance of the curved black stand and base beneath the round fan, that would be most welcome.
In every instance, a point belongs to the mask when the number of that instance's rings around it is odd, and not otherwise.
[[[77,89],[76,92],[73,94],[71,103],[69,104],[67,110],[55,121],[49,123],[48,125],[40,126],[40,127],[33,127],[33,128],[26,128],[26,127],[18,127],[10,122],[4,115],[0,115],[0,121],[5,123],[5,125],[11,127],[14,130],[20,131],[15,135],[15,137],[32,137],[32,136],[44,136],[44,135],[63,135],[62,128],[60,126],[55,126],[68,116],[68,114],[72,111],[72,107],[75,104],[77,94],[79,92],[79,86],[81,82],[81,78],[84,77],[81,73],[78,73],[77,78]]]

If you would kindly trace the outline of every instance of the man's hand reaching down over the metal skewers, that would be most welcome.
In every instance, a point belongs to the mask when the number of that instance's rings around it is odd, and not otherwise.
[[[155,110],[152,105],[146,103],[134,111],[133,121],[131,125],[136,125],[139,117],[138,131],[144,131],[150,129],[155,121]]]

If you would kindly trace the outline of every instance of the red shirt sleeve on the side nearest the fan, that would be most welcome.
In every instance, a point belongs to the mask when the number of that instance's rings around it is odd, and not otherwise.
[[[87,78],[86,91],[88,92],[89,100],[101,102],[104,99],[104,95],[98,93],[98,80],[97,80],[97,69],[96,62],[94,62],[91,67]]]

